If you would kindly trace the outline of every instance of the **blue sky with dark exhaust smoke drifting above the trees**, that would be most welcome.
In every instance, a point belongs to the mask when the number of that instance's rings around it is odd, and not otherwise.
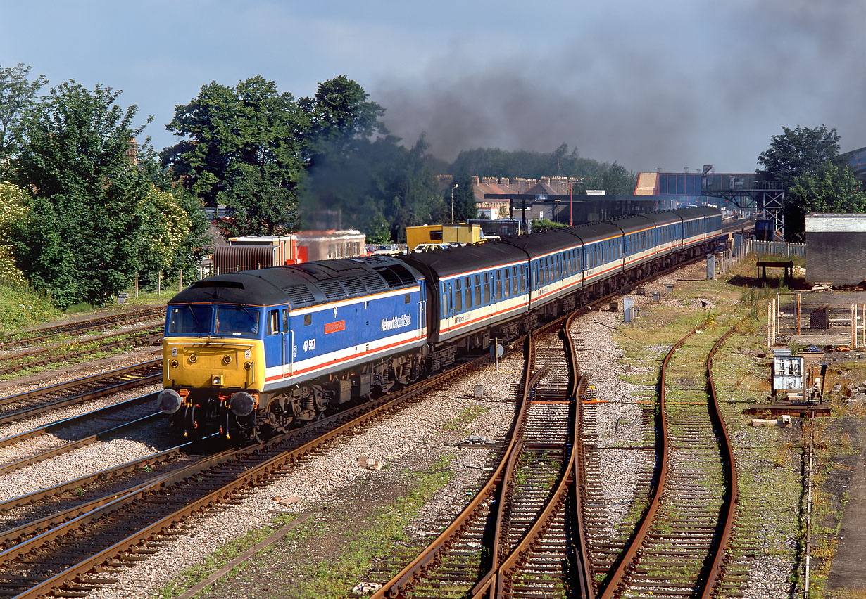
[[[446,160],[567,143],[630,170],[751,171],[782,126],[822,124],[866,146],[863,0],[0,0],[0,15],[0,66],[123,90],[158,150],[175,105],[259,73],[295,97],[345,74]]]

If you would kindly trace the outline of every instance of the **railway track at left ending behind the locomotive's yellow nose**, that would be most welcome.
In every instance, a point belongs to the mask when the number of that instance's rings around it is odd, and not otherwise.
[[[56,385],[0,398],[0,424],[38,416],[66,405],[106,397],[162,381],[162,360],[147,360]]]

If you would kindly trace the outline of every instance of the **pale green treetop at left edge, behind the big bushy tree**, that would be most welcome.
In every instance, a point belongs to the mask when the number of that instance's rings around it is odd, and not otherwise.
[[[30,81],[30,69],[20,62],[16,67],[0,66],[0,166],[20,149],[23,115],[48,82],[45,75]]]

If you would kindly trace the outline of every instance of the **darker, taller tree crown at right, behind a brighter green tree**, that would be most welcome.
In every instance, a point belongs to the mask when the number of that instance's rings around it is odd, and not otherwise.
[[[763,175],[770,181],[781,182],[787,189],[795,177],[815,173],[828,160],[837,162],[840,137],[836,129],[828,131],[822,124],[815,129],[782,127],[782,131],[770,138],[770,147],[758,156]]]

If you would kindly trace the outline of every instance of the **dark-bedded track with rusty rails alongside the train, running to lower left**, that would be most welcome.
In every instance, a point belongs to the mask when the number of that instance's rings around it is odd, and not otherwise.
[[[489,360],[489,356],[473,360],[404,393],[350,408],[268,443],[227,449],[172,468],[115,489],[93,504],[72,507],[68,513],[19,520],[14,538],[6,539],[8,546],[0,551],[0,597],[74,594],[110,582],[96,571],[102,565],[135,561],[152,552],[149,544],[158,543],[159,535],[177,534],[180,523],[192,513],[232,501],[245,487],[261,483],[337,437],[386,417],[432,387]],[[27,500],[18,501],[28,505]]]

